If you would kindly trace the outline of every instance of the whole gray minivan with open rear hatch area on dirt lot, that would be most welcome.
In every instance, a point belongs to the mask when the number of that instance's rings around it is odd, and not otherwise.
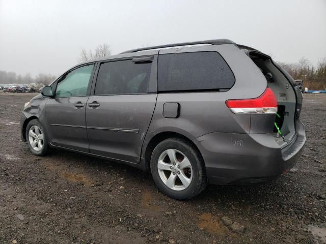
[[[168,196],[265,182],[305,144],[302,93],[270,56],[227,40],[129,50],[79,64],[25,104],[21,137],[150,170]]]

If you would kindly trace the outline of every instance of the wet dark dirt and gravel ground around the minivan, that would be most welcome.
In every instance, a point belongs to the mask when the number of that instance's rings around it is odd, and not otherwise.
[[[128,166],[64,150],[33,156],[17,124],[33,96],[0,92],[0,243],[326,242],[325,95],[304,96],[307,143],[289,173],[263,185],[208,186],[188,201]]]

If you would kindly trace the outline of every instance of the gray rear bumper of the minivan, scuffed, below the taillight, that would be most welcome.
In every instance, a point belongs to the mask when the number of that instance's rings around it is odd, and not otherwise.
[[[206,166],[210,184],[264,182],[288,172],[301,156],[305,127],[297,121],[297,134],[281,148],[273,134],[209,133],[194,140]]]

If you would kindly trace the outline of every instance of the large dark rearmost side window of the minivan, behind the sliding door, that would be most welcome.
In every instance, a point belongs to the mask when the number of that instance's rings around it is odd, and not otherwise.
[[[231,88],[235,81],[218,52],[160,54],[157,72],[161,92]]]

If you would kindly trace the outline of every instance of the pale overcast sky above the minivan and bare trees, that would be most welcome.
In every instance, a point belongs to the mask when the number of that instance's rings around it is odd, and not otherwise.
[[[0,0],[0,70],[59,75],[80,49],[227,38],[281,62],[326,56],[326,0]]]

